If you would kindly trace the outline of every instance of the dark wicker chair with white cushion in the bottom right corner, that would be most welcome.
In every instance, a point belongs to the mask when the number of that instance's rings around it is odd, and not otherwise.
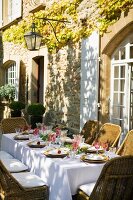
[[[108,161],[95,184],[79,187],[77,199],[133,200],[133,156]]]

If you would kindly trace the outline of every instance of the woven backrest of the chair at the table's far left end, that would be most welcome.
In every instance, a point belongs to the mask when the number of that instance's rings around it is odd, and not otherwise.
[[[1,120],[2,133],[15,133],[16,127],[24,127],[27,125],[24,117],[11,117]]]

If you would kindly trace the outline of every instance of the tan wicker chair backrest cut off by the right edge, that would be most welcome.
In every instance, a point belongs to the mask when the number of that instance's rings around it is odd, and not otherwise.
[[[122,144],[116,152],[118,155],[132,155],[133,156],[133,130],[130,130],[125,136]]]

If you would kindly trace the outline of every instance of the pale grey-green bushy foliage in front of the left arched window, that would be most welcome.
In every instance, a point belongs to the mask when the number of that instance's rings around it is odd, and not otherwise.
[[[16,88],[14,85],[6,84],[0,87],[0,96],[6,100],[15,99]]]

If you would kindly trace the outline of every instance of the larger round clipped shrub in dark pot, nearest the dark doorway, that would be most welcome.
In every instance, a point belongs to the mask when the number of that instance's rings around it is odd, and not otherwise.
[[[43,114],[45,113],[45,107],[41,103],[32,103],[27,107],[27,113],[30,116],[29,121],[32,128],[36,127],[36,123],[42,123]]]

